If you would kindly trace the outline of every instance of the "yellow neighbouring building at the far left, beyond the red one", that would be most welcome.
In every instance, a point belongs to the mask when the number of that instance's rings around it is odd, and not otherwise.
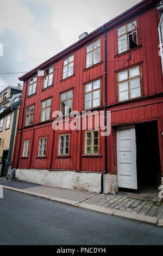
[[[9,176],[22,87],[8,86],[0,93],[0,177]]]

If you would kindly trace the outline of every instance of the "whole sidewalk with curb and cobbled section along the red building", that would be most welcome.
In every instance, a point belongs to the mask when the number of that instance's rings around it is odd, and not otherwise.
[[[93,210],[112,216],[133,219],[163,227],[163,203],[160,200],[143,200],[136,195],[99,194],[83,190],[71,190],[42,186],[24,181],[0,178],[4,189],[14,190],[34,197],[72,205],[82,209]]]

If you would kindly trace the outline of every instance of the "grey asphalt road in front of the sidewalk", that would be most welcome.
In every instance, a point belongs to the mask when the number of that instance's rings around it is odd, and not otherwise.
[[[0,216],[0,245],[163,245],[163,228],[5,189]]]

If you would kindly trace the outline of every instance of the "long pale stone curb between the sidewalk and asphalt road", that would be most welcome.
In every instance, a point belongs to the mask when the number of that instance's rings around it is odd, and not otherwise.
[[[130,213],[127,211],[112,209],[109,207],[105,208],[103,206],[98,206],[98,205],[90,205],[90,204],[85,204],[85,203],[80,204],[77,201],[72,201],[72,200],[67,200],[67,199],[57,198],[57,197],[51,197],[50,195],[40,194],[40,193],[36,193],[36,192],[30,192],[25,189],[12,188],[12,187],[3,186],[3,185],[1,185],[1,186],[4,189],[12,190],[12,191],[22,193],[22,194],[32,195],[32,197],[38,197],[38,198],[54,201],[54,202],[61,203],[61,204],[71,205],[74,207],[78,207],[80,209],[87,209],[87,210],[91,210],[91,211],[101,212],[101,213],[105,213],[106,215],[110,215],[110,216],[127,218],[127,219],[131,219],[132,221],[139,221],[142,223],[157,225],[158,227],[163,227],[163,219],[158,219],[155,217],[149,217],[149,216],[144,216],[144,215],[138,215],[138,214]]]

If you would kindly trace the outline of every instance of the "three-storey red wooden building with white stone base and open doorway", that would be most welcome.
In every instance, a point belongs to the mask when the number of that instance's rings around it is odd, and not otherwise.
[[[18,179],[95,192],[103,185],[104,193],[161,183],[158,3],[140,2],[20,78],[13,164]],[[65,117],[104,106],[111,111],[109,136],[101,136],[95,122],[86,130],[52,128],[55,110]]]

